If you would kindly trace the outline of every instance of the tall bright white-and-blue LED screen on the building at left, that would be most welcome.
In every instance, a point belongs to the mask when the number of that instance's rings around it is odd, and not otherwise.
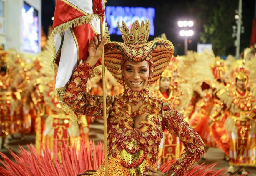
[[[39,53],[38,11],[24,2],[21,18],[22,50]]]

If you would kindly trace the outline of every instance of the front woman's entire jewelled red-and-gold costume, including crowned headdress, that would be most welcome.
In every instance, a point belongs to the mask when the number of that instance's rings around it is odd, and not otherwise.
[[[149,37],[149,21],[138,21],[129,29],[126,24],[119,26],[124,43],[111,42],[104,46],[105,65],[109,72],[124,85],[124,92],[117,96],[107,96],[107,144],[109,175],[144,175],[146,167],[157,169],[158,148],[162,132],[168,129],[170,133],[179,136],[185,149],[181,158],[176,161],[167,175],[183,175],[200,158],[204,147],[200,136],[172,109],[171,105],[162,100],[150,97],[148,84],[159,79],[172,58],[173,45],[168,40],[147,42]],[[131,62],[148,61],[150,77],[148,84],[139,92],[133,92],[124,83],[122,74],[125,60]],[[85,114],[100,118],[103,116],[102,96],[91,96],[83,92],[87,79],[93,68],[87,63],[77,66],[71,82],[67,86],[64,102],[77,114]],[[137,105],[144,101],[138,109],[132,109],[131,103]],[[133,128],[134,117],[143,114],[140,128]],[[105,175],[102,164],[94,175]]]

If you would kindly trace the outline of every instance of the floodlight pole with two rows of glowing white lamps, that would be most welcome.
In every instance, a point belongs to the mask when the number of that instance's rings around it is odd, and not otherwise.
[[[178,21],[178,26],[181,27],[181,28],[187,28],[187,27],[192,27],[194,25],[194,22],[193,21]],[[179,35],[180,36],[184,36],[184,52],[185,52],[185,55],[187,53],[187,39],[188,39],[188,36],[192,36],[194,35],[194,31],[193,30],[181,30],[179,31]]]

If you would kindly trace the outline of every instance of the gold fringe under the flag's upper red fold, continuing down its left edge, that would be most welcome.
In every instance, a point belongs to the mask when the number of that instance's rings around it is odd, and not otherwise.
[[[52,31],[51,33],[51,41],[52,41],[52,45],[51,45],[51,48],[53,50],[53,55],[52,55],[52,58],[51,58],[51,66],[52,68],[54,69],[54,71],[57,71],[58,70],[58,67],[54,66],[54,63],[56,61],[56,49],[55,49],[55,42],[54,42],[54,36],[57,35],[58,33],[61,33],[61,32],[64,32],[66,30],[68,30],[69,28],[72,28],[72,27],[77,27],[77,26],[81,26],[85,23],[90,23],[92,22],[92,20],[94,18],[99,18],[99,15],[98,14],[89,14],[89,15],[84,15],[84,16],[81,16],[79,18],[76,18],[74,20],[71,20],[71,21],[68,21],[66,23],[63,23],[59,26],[56,26],[54,28],[54,30]]]

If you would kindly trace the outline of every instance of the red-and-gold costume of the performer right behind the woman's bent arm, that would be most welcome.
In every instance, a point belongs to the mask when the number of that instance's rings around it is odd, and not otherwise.
[[[161,77],[170,78],[170,87],[167,92],[160,91],[160,79],[157,81],[157,86],[152,87],[151,94],[153,97],[161,99],[165,103],[169,103],[173,109],[177,110],[179,114],[182,114],[182,117],[186,117],[186,107],[188,107],[191,97],[187,91],[181,91],[181,81],[174,79],[174,72],[178,72],[178,59],[172,57],[171,62],[168,67],[164,70]],[[184,85],[183,87],[186,87]],[[179,158],[182,153],[182,143],[180,139],[171,133],[168,130],[164,131],[164,136],[161,140],[159,147],[159,160],[160,163],[164,164],[169,160]]]

